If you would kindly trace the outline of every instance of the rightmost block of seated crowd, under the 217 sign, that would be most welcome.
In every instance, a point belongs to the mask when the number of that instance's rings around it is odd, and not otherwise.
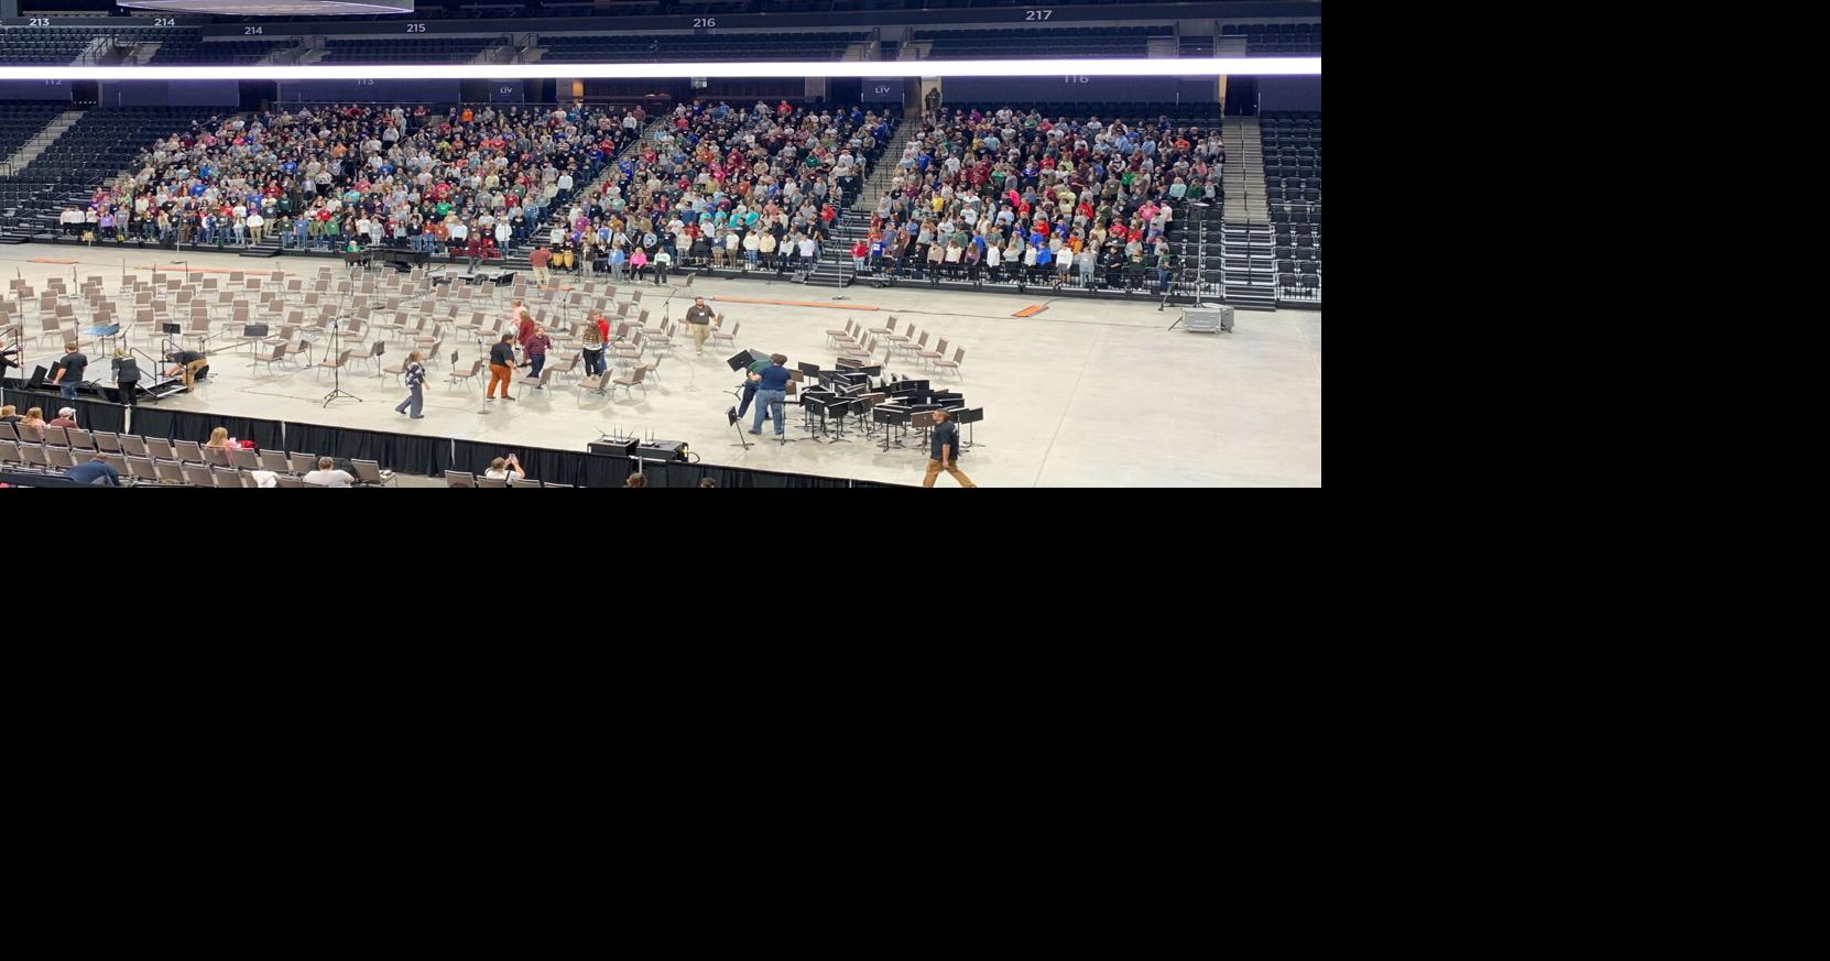
[[[941,110],[899,159],[860,271],[928,280],[1168,284],[1177,209],[1219,198],[1219,130]]]

